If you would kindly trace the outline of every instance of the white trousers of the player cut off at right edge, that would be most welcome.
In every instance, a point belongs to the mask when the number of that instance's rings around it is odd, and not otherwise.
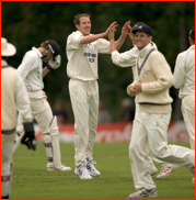
[[[182,113],[189,135],[191,147],[195,149],[195,95],[183,98]]]

